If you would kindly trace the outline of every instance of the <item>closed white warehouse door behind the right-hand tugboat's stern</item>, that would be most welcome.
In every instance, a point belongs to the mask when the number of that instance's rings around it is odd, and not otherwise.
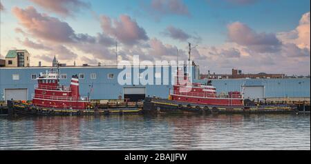
[[[264,86],[244,86],[245,99],[264,99],[265,87]]]

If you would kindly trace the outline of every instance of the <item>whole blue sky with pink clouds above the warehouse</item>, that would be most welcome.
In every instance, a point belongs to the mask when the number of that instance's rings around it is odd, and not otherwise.
[[[0,54],[30,65],[191,59],[202,74],[310,74],[310,0],[0,0]]]

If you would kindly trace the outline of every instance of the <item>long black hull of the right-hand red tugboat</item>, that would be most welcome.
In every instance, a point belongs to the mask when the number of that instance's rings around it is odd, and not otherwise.
[[[197,113],[197,114],[296,114],[297,107],[290,105],[223,106],[185,103],[167,99],[147,97],[144,99],[144,113]]]

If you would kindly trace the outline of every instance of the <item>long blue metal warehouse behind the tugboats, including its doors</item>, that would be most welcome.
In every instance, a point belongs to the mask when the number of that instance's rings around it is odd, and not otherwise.
[[[49,67],[37,68],[0,68],[0,101],[8,99],[31,100],[35,78],[40,72],[50,70]],[[55,69],[55,68],[54,68]],[[169,75],[171,74],[171,68]],[[140,70],[143,72],[144,70]],[[163,69],[162,69],[163,71]],[[167,79],[169,84],[162,85],[120,85],[117,76],[122,70],[116,67],[64,67],[60,68],[62,79],[60,83],[70,85],[73,74],[79,75],[80,94],[87,96],[93,83],[91,99],[125,99],[129,95],[158,96],[167,98],[171,85],[171,76],[163,77],[164,74],[156,74],[155,79]],[[194,82],[205,83],[198,80],[198,70],[193,69]],[[134,76],[134,75],[133,75]],[[138,75],[139,76],[139,75]],[[134,78],[139,78],[134,76]],[[310,79],[217,79],[212,80],[217,92],[240,91],[244,92],[245,98],[296,98],[310,99]]]

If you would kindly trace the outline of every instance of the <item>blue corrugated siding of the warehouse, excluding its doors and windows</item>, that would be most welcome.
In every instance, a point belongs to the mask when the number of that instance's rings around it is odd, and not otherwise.
[[[31,74],[39,74],[39,72],[46,72],[46,70],[49,68],[0,68],[0,100],[3,100],[5,88],[28,88],[28,99],[30,99],[34,92],[34,85],[37,84],[37,81],[31,79]],[[118,99],[118,96],[123,95],[124,87],[133,86],[122,86],[117,83],[117,74],[122,71],[117,68],[61,68],[60,71],[60,73],[67,74],[67,79],[61,80],[64,85],[70,85],[73,74],[83,73],[84,79],[79,80],[80,94],[87,96],[90,91],[89,85],[93,83],[94,90],[91,93],[91,99]],[[143,71],[140,70],[140,72]],[[91,79],[92,73],[97,74],[97,79]],[[108,79],[110,73],[115,75],[114,79]],[[19,74],[19,80],[13,81],[12,74]],[[171,74],[171,69],[169,69],[169,74]],[[171,76],[168,80],[171,84]],[[310,97],[310,79],[223,79],[213,80],[212,83],[217,88],[217,92],[241,92],[242,85],[264,85],[266,97]],[[139,86],[135,85],[135,87]],[[167,98],[169,88],[172,88],[172,85],[147,85],[145,87],[147,96]]]

